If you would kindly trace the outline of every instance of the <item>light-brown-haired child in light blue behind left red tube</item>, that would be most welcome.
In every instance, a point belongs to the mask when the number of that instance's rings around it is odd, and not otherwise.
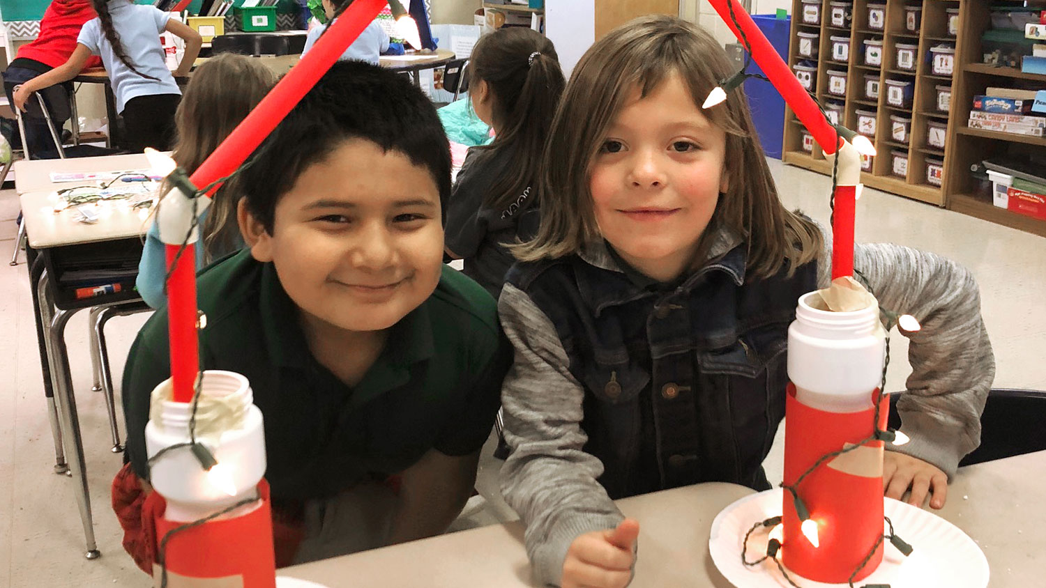
[[[230,79],[235,84],[230,84]],[[172,157],[178,165],[188,173],[196,171],[274,83],[272,70],[254,57],[236,53],[221,53],[197,68],[175,113],[178,139]],[[160,193],[166,191],[165,186],[160,189]],[[233,178],[214,193],[210,206],[200,215],[203,246],[196,249],[198,268],[244,246],[236,225],[240,194]],[[145,238],[136,282],[138,293],[153,308],[166,304],[163,290],[166,275],[164,244],[154,222]]]

